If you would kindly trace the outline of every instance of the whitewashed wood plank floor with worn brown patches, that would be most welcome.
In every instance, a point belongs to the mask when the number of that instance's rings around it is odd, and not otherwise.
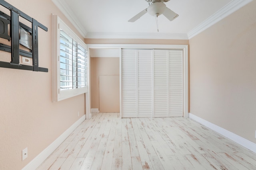
[[[256,170],[256,154],[184,117],[85,120],[38,170]]]

